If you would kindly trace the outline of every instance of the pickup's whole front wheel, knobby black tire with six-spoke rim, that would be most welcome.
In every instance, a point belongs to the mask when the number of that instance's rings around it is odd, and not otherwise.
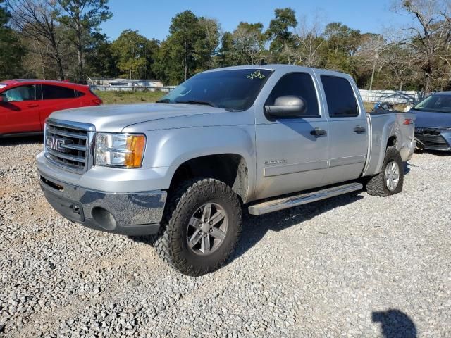
[[[240,237],[240,200],[225,183],[206,178],[183,184],[169,202],[155,247],[185,275],[210,273],[226,263]]]

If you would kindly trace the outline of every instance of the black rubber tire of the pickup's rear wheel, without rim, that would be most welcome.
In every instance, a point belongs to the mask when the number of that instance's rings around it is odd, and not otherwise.
[[[395,189],[390,190],[387,187],[385,180],[385,169],[388,163],[395,162],[399,168],[399,181]],[[397,194],[402,191],[402,185],[404,184],[404,165],[402,163],[402,158],[399,151],[395,147],[390,146],[385,151],[385,158],[383,160],[382,170],[376,176],[371,177],[371,179],[366,183],[366,192],[373,196],[390,196]]]

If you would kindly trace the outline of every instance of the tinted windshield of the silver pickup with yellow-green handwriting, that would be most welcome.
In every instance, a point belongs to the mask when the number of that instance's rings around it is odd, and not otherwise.
[[[271,70],[239,69],[200,73],[157,101],[170,104],[208,104],[228,111],[245,111],[254,104]]]

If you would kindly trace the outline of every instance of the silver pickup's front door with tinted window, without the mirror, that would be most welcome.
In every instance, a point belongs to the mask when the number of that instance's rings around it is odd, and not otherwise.
[[[280,96],[300,96],[307,110],[295,118],[276,118],[261,107],[257,113],[256,199],[321,186],[328,170],[328,121],[313,73],[288,73],[278,80],[266,105]],[[260,108],[258,108],[260,109]],[[321,130],[321,135],[315,134]]]

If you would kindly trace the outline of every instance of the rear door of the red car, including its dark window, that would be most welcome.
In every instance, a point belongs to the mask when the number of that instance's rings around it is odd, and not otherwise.
[[[42,84],[41,93],[39,115],[41,115],[42,125],[44,125],[45,119],[54,111],[78,108],[80,106],[78,99],[75,98],[76,91],[72,88]]]

